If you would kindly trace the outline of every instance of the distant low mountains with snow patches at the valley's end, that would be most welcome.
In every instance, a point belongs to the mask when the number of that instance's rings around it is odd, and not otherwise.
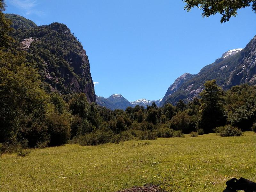
[[[109,108],[111,110],[115,110],[115,109],[125,110],[127,107],[135,107],[136,105],[144,106],[146,108],[147,105],[151,106],[153,102],[155,102],[156,105],[159,107],[161,102],[161,100],[152,101],[152,100],[146,100],[146,99],[140,99],[133,102],[129,102],[120,94],[113,94],[108,98],[97,96],[96,101],[98,105]]]

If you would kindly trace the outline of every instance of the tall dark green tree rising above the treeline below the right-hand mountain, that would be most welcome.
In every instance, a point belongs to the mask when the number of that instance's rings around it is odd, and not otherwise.
[[[205,133],[226,123],[224,108],[222,104],[222,90],[216,85],[216,80],[206,81],[204,91],[200,93],[201,98],[201,121],[200,128]]]

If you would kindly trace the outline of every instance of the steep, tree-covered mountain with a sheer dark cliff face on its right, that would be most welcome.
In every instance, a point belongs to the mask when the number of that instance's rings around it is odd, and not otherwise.
[[[89,102],[96,102],[90,63],[82,44],[70,29],[61,23],[36,26],[24,17],[5,14],[12,20],[12,37],[19,42],[17,49],[29,53],[28,61],[35,64],[48,92],[60,94],[83,92]]]

